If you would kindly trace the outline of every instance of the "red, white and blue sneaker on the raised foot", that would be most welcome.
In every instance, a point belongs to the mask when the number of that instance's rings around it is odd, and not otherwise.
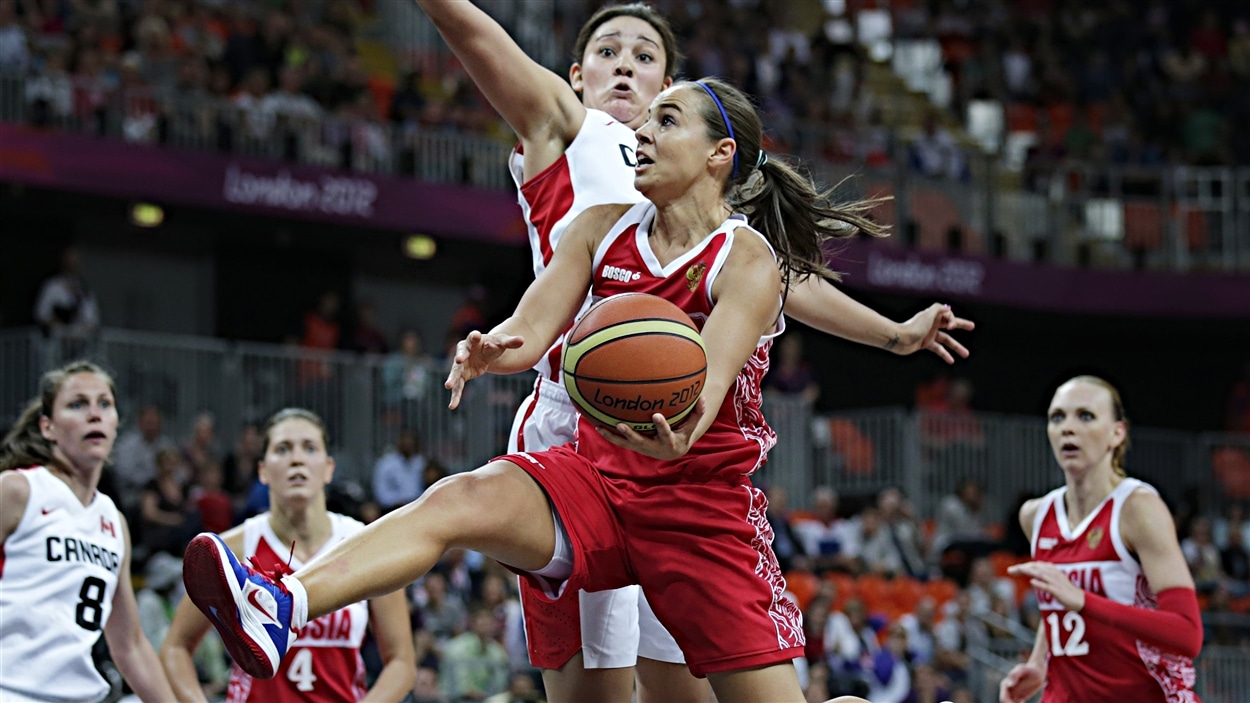
[[[274,678],[298,635],[291,628],[294,598],[280,575],[239,563],[220,537],[201,533],[186,547],[182,582],[239,668]]]

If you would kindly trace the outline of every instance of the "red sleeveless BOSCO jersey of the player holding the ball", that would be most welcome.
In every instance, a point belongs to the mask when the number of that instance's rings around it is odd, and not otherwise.
[[[732,216],[696,246],[661,266],[649,239],[655,221],[655,205],[634,205],[612,226],[595,251],[590,296],[598,301],[620,293],[650,293],[681,308],[695,326],[702,329],[711,314],[711,286],[734,246],[738,231],[752,230],[740,216]],[[751,236],[748,235],[748,236]],[[766,241],[766,240],[765,240]],[[730,479],[749,477],[759,469],[776,434],[764,422],[760,382],[769,370],[769,348],[784,329],[782,318],[771,334],[761,336],[755,354],[748,359],[738,380],[725,395],[711,428],[690,452],[671,462],[656,462],[635,452],[621,452],[599,435],[585,418],[579,420],[578,453],[608,475],[655,479],[658,475],[720,475]]]

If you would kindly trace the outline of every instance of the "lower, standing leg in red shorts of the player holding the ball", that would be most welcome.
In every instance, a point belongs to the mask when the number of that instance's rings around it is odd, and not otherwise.
[[[634,569],[690,670],[710,679],[720,703],[802,700],[791,663],[802,653],[802,615],[782,595],[762,492],[691,482],[629,498],[629,552],[648,557]]]

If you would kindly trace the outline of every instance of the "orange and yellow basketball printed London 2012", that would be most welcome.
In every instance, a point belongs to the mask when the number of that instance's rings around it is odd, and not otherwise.
[[[678,425],[694,410],[708,353],[690,316],[645,293],[595,303],[569,331],[564,387],[598,423],[654,433],[651,415]]]

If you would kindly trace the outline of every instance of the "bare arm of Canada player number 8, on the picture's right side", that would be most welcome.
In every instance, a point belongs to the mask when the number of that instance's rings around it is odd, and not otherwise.
[[[104,625],[104,638],[118,670],[140,700],[175,700],[174,689],[165,678],[156,650],[144,637],[144,628],[139,622],[139,604],[130,585],[130,525],[125,518],[121,518],[121,532],[125,535],[126,553],[121,557],[121,568],[118,570],[118,590],[112,594],[112,612]]]

